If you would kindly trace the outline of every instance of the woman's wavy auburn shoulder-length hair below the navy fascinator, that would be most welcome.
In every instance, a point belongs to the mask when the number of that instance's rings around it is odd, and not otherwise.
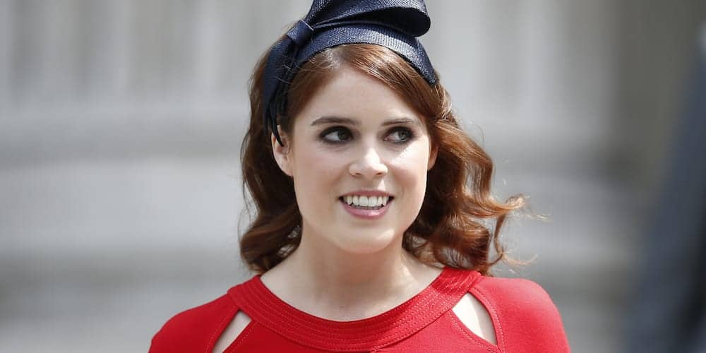
[[[250,126],[241,148],[243,193],[252,222],[240,239],[240,253],[249,268],[264,273],[292,253],[301,240],[301,214],[294,183],[275,162],[270,132],[263,124],[263,71],[267,53],[250,81]],[[287,112],[277,116],[285,133],[311,97],[342,67],[372,76],[397,92],[426,119],[431,143],[438,150],[429,170],[424,203],[405,231],[402,246],[430,265],[478,270],[506,258],[498,234],[506,217],[525,199],[505,203],[491,196],[493,162],[458,124],[448,92],[441,83],[429,85],[401,56],[373,44],[345,44],[326,49],[301,65],[289,86]],[[252,209],[252,206],[255,209]],[[487,227],[486,220],[495,220]],[[491,251],[494,255],[491,256]],[[491,258],[492,257],[492,258]]]

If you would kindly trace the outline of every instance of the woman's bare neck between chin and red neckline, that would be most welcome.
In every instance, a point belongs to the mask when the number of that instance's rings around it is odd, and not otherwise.
[[[401,237],[375,253],[347,253],[302,237],[292,255],[261,277],[288,304],[337,321],[383,313],[414,297],[441,272],[402,249]]]

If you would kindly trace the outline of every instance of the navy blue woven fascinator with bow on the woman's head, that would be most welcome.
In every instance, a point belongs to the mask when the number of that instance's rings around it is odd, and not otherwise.
[[[340,44],[378,44],[392,49],[433,85],[436,75],[417,37],[431,26],[423,0],[314,0],[306,17],[270,50],[263,77],[265,130],[277,133],[277,114],[301,64]]]

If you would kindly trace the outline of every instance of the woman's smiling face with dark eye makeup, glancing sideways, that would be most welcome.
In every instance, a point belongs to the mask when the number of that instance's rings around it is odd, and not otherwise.
[[[287,147],[273,148],[294,179],[302,237],[358,254],[400,239],[436,159],[424,118],[381,81],[342,68],[294,119]]]

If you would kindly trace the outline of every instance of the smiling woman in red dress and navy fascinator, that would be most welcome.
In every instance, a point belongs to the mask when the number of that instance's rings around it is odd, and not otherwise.
[[[541,287],[488,275],[522,199],[491,198],[427,30],[423,1],[314,1],[268,50],[242,155],[258,275],[174,316],[151,352],[568,352]]]

